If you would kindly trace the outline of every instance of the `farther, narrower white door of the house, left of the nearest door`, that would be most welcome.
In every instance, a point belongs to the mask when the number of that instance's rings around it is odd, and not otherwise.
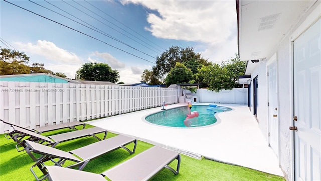
[[[276,60],[268,65],[268,95],[269,95],[269,144],[278,156],[278,119],[277,119],[277,87],[276,87]]]

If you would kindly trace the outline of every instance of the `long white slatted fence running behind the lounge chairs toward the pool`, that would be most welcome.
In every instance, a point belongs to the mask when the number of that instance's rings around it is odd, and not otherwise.
[[[108,117],[178,103],[175,88],[0,82],[0,119],[28,128]],[[0,134],[9,126],[0,123]]]

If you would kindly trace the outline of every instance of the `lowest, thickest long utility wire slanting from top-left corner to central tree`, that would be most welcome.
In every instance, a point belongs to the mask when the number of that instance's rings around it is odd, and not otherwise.
[[[28,12],[30,12],[30,13],[32,13],[32,14],[35,14],[35,15],[37,15],[37,16],[40,16],[40,17],[42,17],[42,18],[44,18],[44,19],[47,19],[47,20],[49,20],[49,21],[52,21],[52,22],[54,22],[54,23],[56,23],[56,24],[59,24],[59,25],[61,25],[61,26],[64,26],[64,27],[66,27],[66,28],[69,28],[69,29],[71,29],[71,30],[73,30],[73,31],[76,31],[76,32],[80,33],[80,34],[83,34],[83,35],[85,35],[85,36],[88,36],[88,37],[90,37],[90,38],[92,38],[92,39],[94,39],[94,40],[100,41],[100,42],[102,42],[102,43],[104,43],[104,44],[106,44],[106,45],[109,45],[109,46],[111,46],[111,47],[113,47],[113,48],[115,48],[115,49],[117,49],[117,50],[120,50],[120,51],[122,51],[122,52],[125,52],[125,53],[127,53],[127,54],[130,54],[130,55],[132,55],[132,56],[134,56],[134,57],[137,57],[137,58],[142,59],[142,60],[144,60],[144,61],[147,61],[147,62],[150,62],[150,63],[152,63],[152,64],[155,64],[154,62],[151,62],[151,61],[149,61],[149,60],[146,60],[146,59],[144,59],[144,58],[141,58],[141,57],[139,57],[139,56],[137,56],[137,55],[134,55],[134,54],[132,54],[132,53],[129,53],[129,52],[127,52],[127,51],[125,51],[125,50],[122,50],[122,49],[120,49],[120,48],[118,48],[118,47],[115,47],[115,46],[113,46],[113,45],[110,45],[110,44],[108,44],[107,42],[104,42],[104,41],[102,41],[102,40],[100,40],[100,39],[98,39],[98,38],[95,38],[95,37],[91,36],[91,35],[88,35],[88,34],[86,34],[86,33],[83,33],[83,32],[81,32],[81,31],[79,31],[79,30],[76,30],[76,29],[74,29],[74,28],[71,28],[71,27],[69,27],[69,26],[67,26],[67,25],[64,25],[64,24],[59,23],[59,22],[54,21],[54,20],[51,20],[51,19],[49,19],[49,18],[47,18],[47,17],[44,17],[44,16],[42,16],[42,15],[39,15],[39,14],[37,14],[37,13],[35,13],[35,12],[32,12],[32,11],[30,11],[30,10],[27,10],[27,9],[25,9],[25,8],[23,8],[23,7],[20,7],[20,6],[18,6],[18,5],[15,5],[15,4],[13,4],[13,3],[10,3],[10,2],[8,2],[7,0],[4,0],[4,2],[9,3],[9,4],[11,4],[11,5],[14,5],[14,6],[18,7],[18,8],[21,8],[21,9],[23,9],[23,10],[25,10],[25,11],[28,11]]]

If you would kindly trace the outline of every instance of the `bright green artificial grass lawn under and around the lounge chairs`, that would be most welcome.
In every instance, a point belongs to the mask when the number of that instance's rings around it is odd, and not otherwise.
[[[91,127],[87,125],[86,128]],[[43,133],[48,136],[57,133],[68,132],[69,129],[52,131]],[[107,138],[116,136],[116,134],[108,132]],[[102,138],[103,134],[98,137]],[[77,140],[59,143],[55,148],[70,151],[90,143],[96,142],[93,137],[80,138]],[[34,164],[31,157],[25,152],[18,152],[16,142],[12,139],[5,138],[5,134],[0,135],[0,180],[36,180],[30,171],[30,167]],[[83,169],[84,171],[101,173],[135,155],[152,147],[153,145],[139,141],[137,142],[136,151],[134,154],[129,154],[124,149],[117,149],[109,152],[101,157],[89,161]],[[132,149],[133,144],[127,145]],[[72,164],[66,162],[63,166]],[[264,164],[264,163],[262,163]],[[177,160],[173,161],[170,166],[176,169]],[[37,170],[37,168],[35,168]],[[37,172],[39,173],[39,172]],[[40,173],[39,173],[40,174]],[[108,180],[108,179],[106,179]],[[208,159],[195,159],[181,154],[181,167],[178,175],[175,175],[169,169],[163,169],[152,180],[285,180],[281,176],[276,176],[261,171],[220,163]]]

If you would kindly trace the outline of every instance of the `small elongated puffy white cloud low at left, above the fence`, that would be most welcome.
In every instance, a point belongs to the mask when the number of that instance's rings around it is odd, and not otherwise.
[[[81,63],[80,58],[72,53],[57,47],[54,43],[46,40],[38,40],[37,44],[24,44],[22,42],[15,43],[19,48],[30,54],[36,54],[45,57],[48,60],[53,60],[56,63]]]

